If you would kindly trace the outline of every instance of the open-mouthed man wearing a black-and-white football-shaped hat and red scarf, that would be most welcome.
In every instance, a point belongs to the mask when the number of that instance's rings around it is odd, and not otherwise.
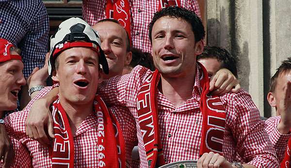
[[[50,107],[55,138],[51,147],[43,147],[25,134],[29,110],[10,114],[4,120],[7,133],[13,144],[27,149],[15,149],[13,167],[125,167],[120,125],[95,94],[102,70],[109,71],[97,32],[70,18],[60,24],[50,46],[49,75],[59,84]]]

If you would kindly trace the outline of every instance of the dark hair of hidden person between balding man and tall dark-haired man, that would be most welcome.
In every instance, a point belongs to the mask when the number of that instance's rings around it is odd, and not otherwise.
[[[151,71],[155,70],[153,58],[150,53],[143,52],[138,48],[131,48],[132,59],[129,65],[134,68],[137,65],[142,65]]]

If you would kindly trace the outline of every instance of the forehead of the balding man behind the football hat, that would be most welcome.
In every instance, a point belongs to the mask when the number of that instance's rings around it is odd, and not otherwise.
[[[126,40],[125,29],[117,23],[104,21],[94,25],[93,29],[98,32],[101,39],[119,37],[122,40]]]

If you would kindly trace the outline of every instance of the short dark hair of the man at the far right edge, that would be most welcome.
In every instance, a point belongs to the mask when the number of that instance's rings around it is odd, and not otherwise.
[[[291,71],[291,57],[288,57],[287,60],[282,61],[279,68],[276,69],[276,73],[271,77],[269,92],[275,92],[275,87],[277,84],[276,79],[280,74],[286,71]]]

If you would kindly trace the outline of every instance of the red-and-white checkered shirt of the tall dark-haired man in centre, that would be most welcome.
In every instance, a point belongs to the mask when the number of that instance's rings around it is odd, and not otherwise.
[[[166,163],[199,158],[202,114],[199,108],[201,93],[198,89],[200,88],[198,73],[197,69],[193,97],[180,107],[174,107],[161,92],[156,92],[159,132]],[[137,66],[131,74],[103,81],[98,86],[98,93],[109,105],[127,106],[138,121],[137,94],[146,78],[152,74],[153,72],[145,67]],[[242,90],[238,93],[226,93],[220,98],[226,109],[223,148],[226,159],[232,162],[239,153],[245,163],[257,168],[277,168],[279,163],[275,150],[264,130],[264,122],[259,119],[259,110],[251,96]],[[148,167],[146,151],[139,125],[137,136],[140,166],[146,168]]]

